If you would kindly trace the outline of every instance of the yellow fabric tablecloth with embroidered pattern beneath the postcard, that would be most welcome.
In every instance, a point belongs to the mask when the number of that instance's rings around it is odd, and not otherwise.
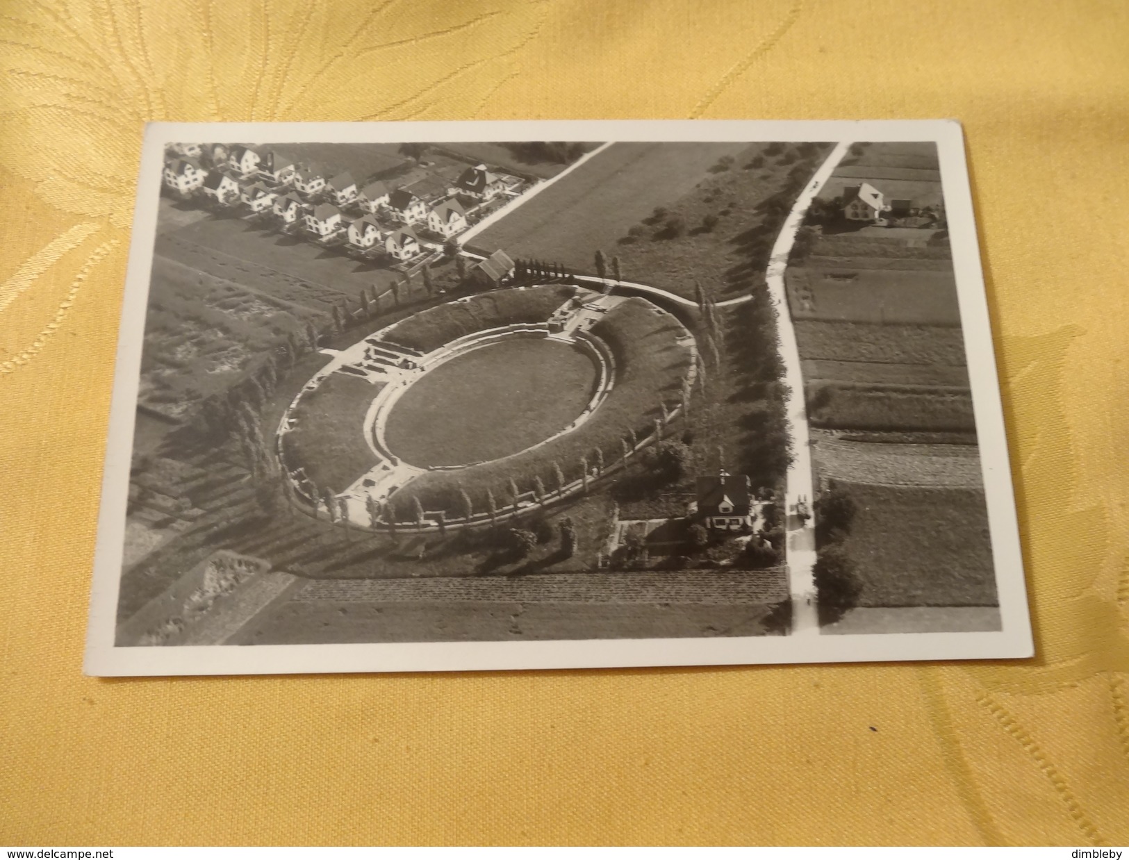
[[[0,3],[0,843],[1129,842],[1127,45],[1120,0]],[[1036,659],[80,675],[141,124],[523,117],[965,123]]]

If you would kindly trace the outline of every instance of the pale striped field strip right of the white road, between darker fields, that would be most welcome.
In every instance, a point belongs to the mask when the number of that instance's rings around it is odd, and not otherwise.
[[[895,486],[983,488],[974,445],[856,441],[812,430],[812,457],[821,480]]]

